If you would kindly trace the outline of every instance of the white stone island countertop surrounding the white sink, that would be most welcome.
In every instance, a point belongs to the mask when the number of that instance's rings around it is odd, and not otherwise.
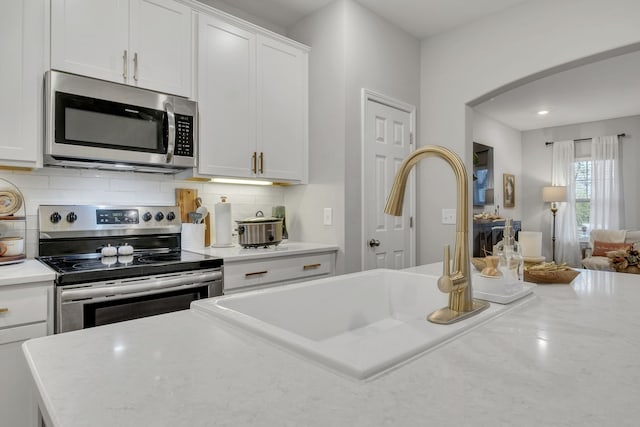
[[[50,427],[636,426],[640,276],[535,293],[368,382],[189,310],[23,348]]]

